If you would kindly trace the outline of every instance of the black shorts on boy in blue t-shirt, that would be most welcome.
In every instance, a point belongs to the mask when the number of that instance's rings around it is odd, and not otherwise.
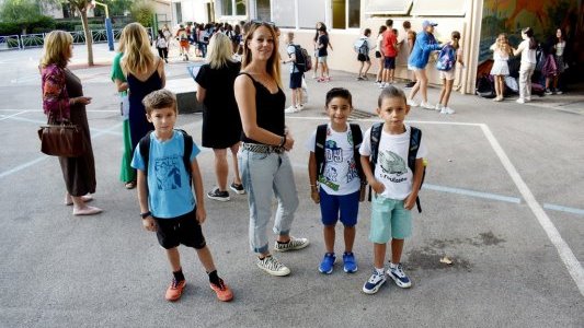
[[[192,212],[172,219],[157,219],[158,243],[165,249],[181,244],[195,249],[204,248],[207,243],[196,218],[196,207]]]

